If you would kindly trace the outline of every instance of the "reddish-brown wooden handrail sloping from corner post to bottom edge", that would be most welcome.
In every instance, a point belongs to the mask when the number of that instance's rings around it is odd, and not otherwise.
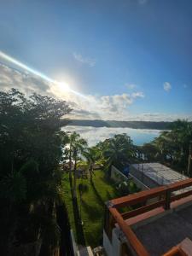
[[[125,223],[125,220],[122,218],[117,209],[109,207],[108,210],[109,212],[111,212],[113,218],[119,224],[119,227],[124,232],[127,240],[130,241],[131,247],[135,250],[135,252],[141,256],[149,256],[146,248],[143,247],[143,244],[141,243],[141,241],[138,240],[136,234],[131,230],[131,227]]]

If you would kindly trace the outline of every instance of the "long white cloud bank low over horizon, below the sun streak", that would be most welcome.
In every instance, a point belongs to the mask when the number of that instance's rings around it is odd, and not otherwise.
[[[55,84],[29,73],[0,64],[0,90],[16,88],[26,95],[37,92],[42,95],[54,96],[65,100],[72,113],[68,115],[72,119],[105,119],[105,120],[150,120],[166,121],[174,119],[192,120],[192,114],[168,114],[168,113],[139,113],[132,114],[130,107],[138,100],[142,100],[142,91],[131,94],[122,93],[110,96],[78,96],[70,91],[61,91]]]

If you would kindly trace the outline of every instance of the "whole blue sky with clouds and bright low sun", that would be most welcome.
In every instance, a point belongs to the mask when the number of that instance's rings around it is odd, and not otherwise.
[[[67,101],[73,119],[192,120],[192,1],[1,0],[12,87]]]

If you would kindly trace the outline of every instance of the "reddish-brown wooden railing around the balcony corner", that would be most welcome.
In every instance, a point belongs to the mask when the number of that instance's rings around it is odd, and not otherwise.
[[[147,249],[143,246],[142,242],[138,240],[133,230],[131,230],[131,226],[126,224],[125,219],[135,217],[138,214],[148,212],[158,207],[163,207],[165,210],[170,209],[172,201],[177,201],[192,195],[192,187],[187,191],[181,191],[177,195],[174,194],[174,192],[179,189],[189,188],[190,186],[192,186],[192,178],[108,201],[105,220],[105,231],[108,234],[108,238],[110,240],[112,239],[112,230],[115,223],[117,223],[135,253],[137,253],[138,256],[149,256]],[[152,200],[154,200],[154,202],[150,202]],[[137,208],[129,212],[120,213],[118,211],[119,208],[133,207],[136,205]],[[140,207],[138,207],[138,205],[140,205]]]

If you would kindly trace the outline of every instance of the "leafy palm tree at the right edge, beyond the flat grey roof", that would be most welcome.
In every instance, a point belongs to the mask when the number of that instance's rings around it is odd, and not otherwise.
[[[187,172],[191,140],[191,122],[177,119],[172,123],[169,131],[162,131],[159,137],[156,137],[152,143],[144,145],[142,149],[149,159],[160,160],[178,171]]]

